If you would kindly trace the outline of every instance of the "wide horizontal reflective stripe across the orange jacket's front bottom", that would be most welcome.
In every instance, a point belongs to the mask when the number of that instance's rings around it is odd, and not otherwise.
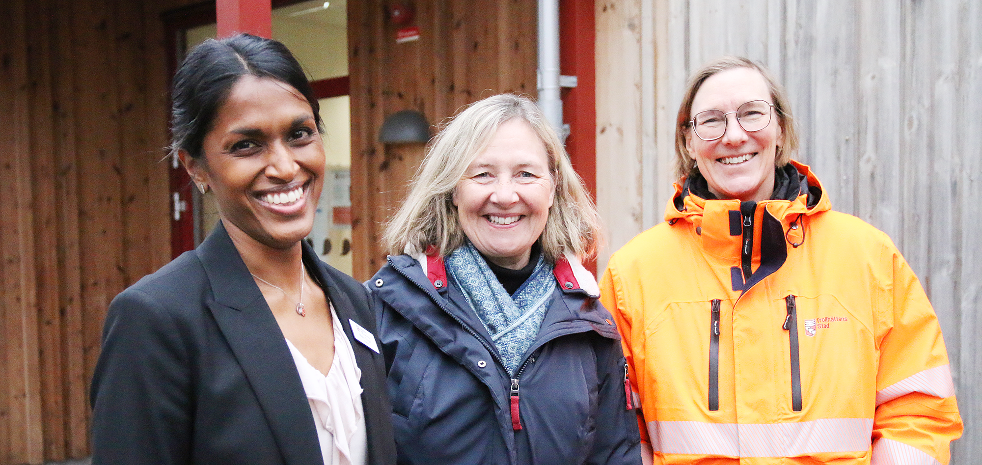
[[[656,421],[647,426],[655,451],[726,457],[793,457],[869,450],[873,434],[871,418],[763,425]]]

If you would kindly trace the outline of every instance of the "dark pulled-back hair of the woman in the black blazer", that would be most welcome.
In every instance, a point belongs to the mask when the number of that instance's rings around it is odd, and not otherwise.
[[[171,92],[171,152],[186,150],[192,158],[201,154],[205,134],[232,86],[244,76],[285,82],[302,94],[313,110],[317,128],[320,104],[314,98],[300,63],[282,43],[251,34],[208,39],[194,47],[174,76]]]

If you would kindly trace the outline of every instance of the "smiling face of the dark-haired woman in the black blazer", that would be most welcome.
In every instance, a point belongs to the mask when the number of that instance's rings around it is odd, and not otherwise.
[[[313,227],[324,178],[324,147],[313,110],[294,87],[244,76],[219,107],[201,144],[180,153],[205,182],[234,240],[273,248],[299,244]]]

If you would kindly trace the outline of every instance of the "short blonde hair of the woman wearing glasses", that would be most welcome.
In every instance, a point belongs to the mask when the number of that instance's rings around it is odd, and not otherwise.
[[[685,86],[685,95],[682,97],[682,105],[679,106],[679,116],[676,119],[676,179],[689,177],[695,173],[695,160],[689,156],[688,149],[685,148],[685,135],[689,130],[689,122],[692,120],[692,101],[695,94],[706,79],[724,71],[736,68],[749,68],[760,73],[760,76],[767,82],[767,88],[771,92],[771,100],[774,102],[774,111],[778,115],[778,124],[781,125],[781,145],[774,164],[780,168],[788,164],[791,155],[797,153],[798,137],[797,130],[794,129],[794,119],[791,117],[791,105],[788,102],[788,95],[785,88],[771,75],[771,72],[757,62],[748,58],[723,56],[712,60],[702,68],[696,70],[692,77],[688,79]]]

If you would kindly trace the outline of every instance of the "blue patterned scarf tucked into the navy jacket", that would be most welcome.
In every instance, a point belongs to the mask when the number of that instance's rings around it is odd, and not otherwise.
[[[532,275],[515,295],[509,295],[470,241],[454,250],[444,263],[447,274],[463,290],[470,308],[491,335],[508,373],[515,376],[552,303],[556,289],[552,267],[540,256]]]

